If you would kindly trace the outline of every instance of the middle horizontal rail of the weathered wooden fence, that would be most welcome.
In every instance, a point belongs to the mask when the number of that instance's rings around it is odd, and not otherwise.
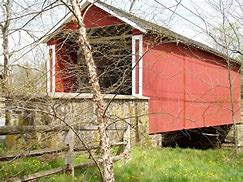
[[[111,146],[120,146],[120,145],[126,145],[124,142],[118,142],[118,143],[113,143]],[[90,150],[95,150],[98,149],[100,146],[89,146]],[[85,147],[74,147],[73,149],[75,152],[81,152],[81,151],[86,151]],[[50,148],[50,149],[40,149],[40,150],[32,150],[32,151],[24,151],[22,153],[13,153],[13,154],[1,154],[0,155],[0,161],[8,161],[14,158],[23,158],[23,157],[31,157],[31,156],[41,156],[44,154],[53,154],[53,153],[61,153],[61,152],[66,152],[68,151],[68,147],[63,147],[63,148]]]

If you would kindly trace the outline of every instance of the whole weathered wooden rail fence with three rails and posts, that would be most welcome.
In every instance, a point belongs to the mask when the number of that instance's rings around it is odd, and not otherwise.
[[[73,164],[74,160],[74,155],[75,152],[80,152],[80,151],[87,151],[88,150],[95,150],[99,149],[99,145],[88,145],[86,147],[84,146],[75,146],[75,134],[73,130],[75,131],[97,131],[99,128],[98,126],[81,126],[81,125],[75,125],[72,126],[50,126],[50,125],[41,125],[41,126],[1,126],[0,127],[0,135],[17,135],[17,134],[29,134],[29,133],[42,133],[42,132],[61,132],[61,131],[66,131],[65,139],[64,139],[64,144],[65,147],[62,148],[45,148],[45,149],[40,149],[40,150],[31,150],[31,151],[24,151],[24,152],[19,152],[19,153],[5,153],[5,154],[0,154],[0,161],[9,161],[13,160],[16,158],[23,158],[23,157],[31,157],[31,156],[41,156],[44,154],[53,154],[53,153],[65,153],[64,157],[64,163],[65,166],[63,167],[58,167],[46,171],[40,171],[35,174],[31,175],[25,175],[22,177],[16,177],[11,179],[12,181],[31,181],[35,180],[41,177],[57,174],[57,173],[67,173],[74,175],[74,169],[76,168],[82,168],[82,167],[90,167],[90,166],[95,166],[95,162],[87,162],[87,163],[82,163],[78,165]],[[116,130],[116,131],[122,131],[123,132],[123,140],[118,141],[116,143],[112,143],[111,146],[119,146],[119,154],[117,156],[113,157],[114,161],[119,160],[120,154],[122,152],[129,151],[130,150],[130,125],[126,124],[124,127],[114,127],[110,126],[107,128],[107,130]],[[97,160],[97,163],[101,163],[102,160]]]

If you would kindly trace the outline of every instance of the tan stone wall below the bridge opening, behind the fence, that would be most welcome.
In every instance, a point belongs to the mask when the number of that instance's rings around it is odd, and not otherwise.
[[[131,126],[131,143],[148,142],[148,98],[125,95],[105,95],[107,116],[113,127],[129,124]],[[62,93],[54,96],[9,97],[5,101],[6,125],[97,125],[92,94]],[[63,146],[66,132],[32,133],[8,135],[7,147],[45,148]],[[99,143],[98,132],[78,132],[85,143]],[[122,140],[123,131],[110,131],[112,142]],[[76,137],[76,145],[80,141]]]

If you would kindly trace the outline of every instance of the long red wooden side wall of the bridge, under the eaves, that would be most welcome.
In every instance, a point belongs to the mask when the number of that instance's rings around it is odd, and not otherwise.
[[[145,43],[144,51],[147,49]],[[151,48],[143,60],[150,133],[232,123],[228,70],[219,57],[171,43]],[[237,121],[238,69],[231,70]]]

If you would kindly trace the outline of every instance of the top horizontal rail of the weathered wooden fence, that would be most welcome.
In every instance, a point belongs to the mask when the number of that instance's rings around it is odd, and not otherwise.
[[[39,126],[1,126],[0,135],[16,135],[16,134],[26,134],[34,132],[60,132],[68,131],[69,126],[52,126],[52,125],[39,125]],[[73,126],[76,131],[96,131],[98,126]],[[109,127],[107,130],[124,130],[125,127]]]

